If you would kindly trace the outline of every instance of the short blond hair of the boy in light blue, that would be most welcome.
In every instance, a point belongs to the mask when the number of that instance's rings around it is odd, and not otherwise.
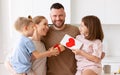
[[[19,17],[15,21],[15,29],[17,31],[21,31],[24,26],[28,26],[32,22],[32,19],[26,18],[26,17]]]

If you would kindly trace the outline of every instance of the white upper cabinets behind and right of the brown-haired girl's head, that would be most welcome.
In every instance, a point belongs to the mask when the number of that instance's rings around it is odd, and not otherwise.
[[[96,15],[102,24],[120,24],[120,0],[72,0],[71,23],[79,24],[83,16]]]

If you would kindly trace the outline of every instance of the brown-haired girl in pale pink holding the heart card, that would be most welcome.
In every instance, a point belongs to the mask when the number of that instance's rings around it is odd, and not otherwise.
[[[103,30],[98,17],[90,15],[82,18],[79,27],[81,35],[76,39],[83,43],[80,50],[73,50],[77,60],[76,75],[101,75],[101,55]]]

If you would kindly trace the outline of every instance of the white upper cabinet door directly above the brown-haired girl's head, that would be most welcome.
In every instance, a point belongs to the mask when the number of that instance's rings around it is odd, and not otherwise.
[[[80,24],[82,17],[86,15],[96,15],[104,21],[104,0],[72,0],[71,6],[73,24]]]

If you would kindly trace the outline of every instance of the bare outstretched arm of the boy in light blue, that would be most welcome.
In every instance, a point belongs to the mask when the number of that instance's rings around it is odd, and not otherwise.
[[[43,57],[49,57],[49,56],[52,56],[52,55],[57,55],[59,54],[58,50],[55,49],[55,48],[50,48],[48,51],[46,52],[38,52],[37,50],[33,51],[32,55],[38,59],[38,58],[43,58]]]

